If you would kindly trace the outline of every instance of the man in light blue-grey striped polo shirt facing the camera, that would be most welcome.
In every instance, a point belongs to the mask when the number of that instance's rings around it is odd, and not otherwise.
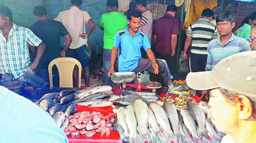
[[[234,13],[223,11],[216,18],[216,22],[220,38],[212,40],[208,44],[205,71],[211,71],[225,57],[243,51],[251,51],[249,41],[232,33],[232,28],[235,26]]]

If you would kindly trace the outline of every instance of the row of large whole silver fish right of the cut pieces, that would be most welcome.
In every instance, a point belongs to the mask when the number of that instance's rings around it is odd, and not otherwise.
[[[220,143],[224,136],[207,118],[207,102],[199,105],[187,102],[186,108],[178,109],[171,101],[161,106],[147,102],[136,93],[121,94],[123,96],[113,102],[121,106],[117,107],[117,119],[113,123],[120,143]]]

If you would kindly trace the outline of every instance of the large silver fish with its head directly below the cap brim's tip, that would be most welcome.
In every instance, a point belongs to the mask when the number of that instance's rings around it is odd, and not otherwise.
[[[192,115],[192,117],[196,120],[196,123],[198,125],[199,136],[203,140],[207,140],[208,135],[205,131],[206,124],[204,111],[195,102],[188,102],[187,107],[190,115]]]

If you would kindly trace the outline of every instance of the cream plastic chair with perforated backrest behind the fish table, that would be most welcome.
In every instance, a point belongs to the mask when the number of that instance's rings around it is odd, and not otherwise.
[[[72,57],[58,57],[53,59],[49,66],[49,78],[50,78],[50,87],[53,87],[52,82],[52,66],[56,65],[60,75],[60,87],[73,87],[73,71],[75,65],[78,66],[78,87],[81,87],[81,74],[82,74],[82,65],[81,63]]]

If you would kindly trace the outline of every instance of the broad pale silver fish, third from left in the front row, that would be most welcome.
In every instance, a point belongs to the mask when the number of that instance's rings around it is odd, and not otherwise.
[[[151,142],[151,138],[148,134],[148,105],[141,99],[137,99],[134,103],[134,112],[139,126],[140,142],[144,139]]]

